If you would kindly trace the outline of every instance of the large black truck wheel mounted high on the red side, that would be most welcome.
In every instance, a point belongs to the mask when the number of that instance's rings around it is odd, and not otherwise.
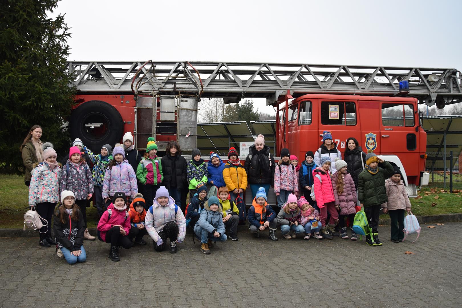
[[[72,139],[80,138],[92,151],[120,142],[123,120],[114,106],[102,101],[89,101],[74,109],[69,121]]]

